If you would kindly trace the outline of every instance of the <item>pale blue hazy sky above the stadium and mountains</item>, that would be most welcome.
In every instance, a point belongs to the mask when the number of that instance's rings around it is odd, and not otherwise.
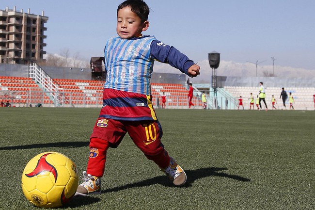
[[[221,61],[315,70],[314,0],[145,0],[154,35],[194,62],[221,53]],[[0,9],[45,11],[47,53],[69,49],[85,60],[103,56],[116,34],[121,0],[0,0]]]

